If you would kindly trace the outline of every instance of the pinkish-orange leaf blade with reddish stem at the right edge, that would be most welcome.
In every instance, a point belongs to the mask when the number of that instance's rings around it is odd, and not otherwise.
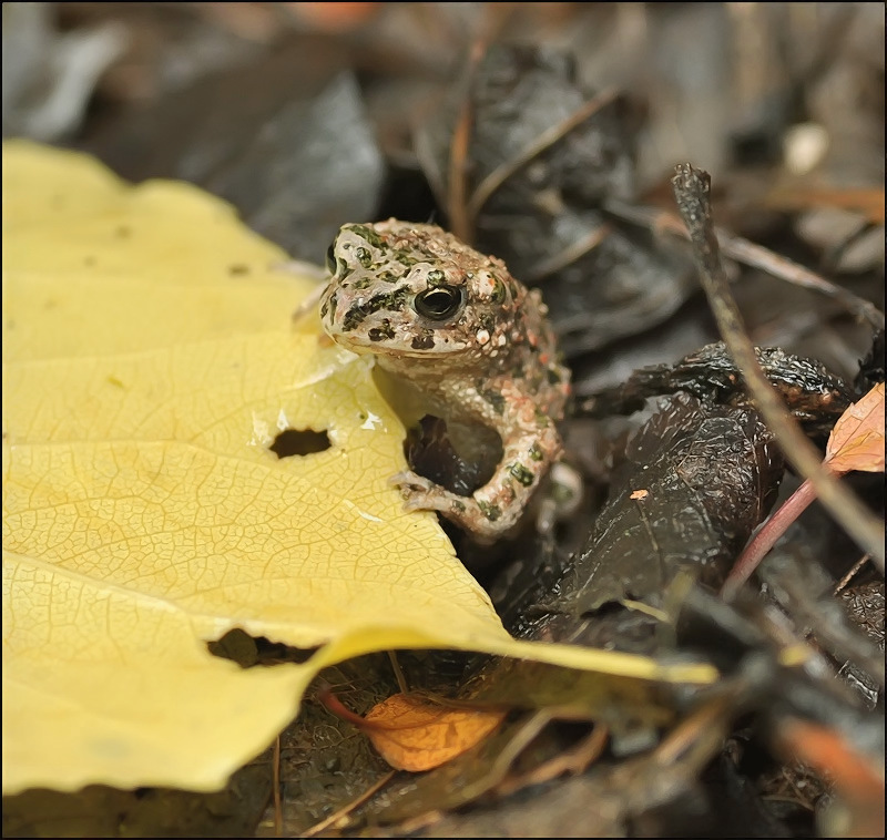
[[[884,470],[884,382],[840,416],[828,438],[825,460],[839,473]]]

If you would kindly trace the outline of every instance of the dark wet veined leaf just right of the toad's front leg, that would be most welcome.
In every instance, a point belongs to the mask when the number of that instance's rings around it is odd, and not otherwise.
[[[773,504],[782,471],[754,410],[683,395],[664,400],[629,444],[561,590],[563,608],[581,614],[624,598],[659,605],[681,572],[720,585]],[[646,495],[632,499],[639,490]]]

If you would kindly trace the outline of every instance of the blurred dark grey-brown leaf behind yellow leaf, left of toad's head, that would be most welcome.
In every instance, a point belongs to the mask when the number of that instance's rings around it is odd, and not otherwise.
[[[339,49],[296,40],[132,114],[90,151],[124,177],[205,187],[294,256],[323,263],[343,223],[373,216],[384,174],[340,62]]]

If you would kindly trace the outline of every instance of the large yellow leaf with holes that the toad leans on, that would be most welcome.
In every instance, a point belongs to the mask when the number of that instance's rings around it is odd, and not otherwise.
[[[704,665],[512,641],[388,479],[369,362],[231,207],[3,144],[3,785],[213,790],[328,664],[452,647],[640,678]],[[278,459],[284,429],[330,447]],[[318,651],[243,670],[234,627]]]

